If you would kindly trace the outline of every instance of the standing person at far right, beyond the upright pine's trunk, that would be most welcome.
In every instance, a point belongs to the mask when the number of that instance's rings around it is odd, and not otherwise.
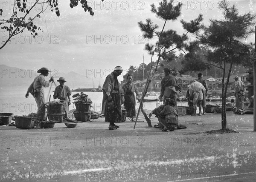
[[[235,82],[235,97],[236,97],[236,108],[244,109],[244,82],[239,80],[239,77],[234,78]]]

